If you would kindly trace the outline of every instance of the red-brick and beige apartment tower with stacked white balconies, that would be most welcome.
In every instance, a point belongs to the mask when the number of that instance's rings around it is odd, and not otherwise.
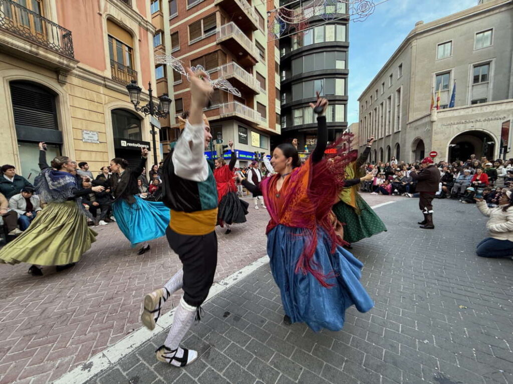
[[[186,67],[201,65],[211,79],[226,79],[240,91],[239,97],[215,90],[205,108],[214,139],[235,143],[239,166],[249,165],[254,152],[269,154],[271,137],[281,132],[279,51],[277,43],[267,38],[267,11],[275,6],[272,1],[251,0],[154,0],[150,4],[155,36],[162,34],[155,41],[155,55],[165,52]],[[161,91],[167,84],[173,99],[171,119],[161,130],[166,154],[168,144],[179,134],[176,117],[189,108],[190,88],[185,76],[169,66],[157,64],[155,73]],[[212,156],[210,151],[205,155]]]

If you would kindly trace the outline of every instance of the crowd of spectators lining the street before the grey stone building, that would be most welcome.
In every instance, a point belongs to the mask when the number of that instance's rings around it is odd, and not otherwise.
[[[436,198],[456,199],[463,204],[475,204],[475,197],[483,197],[489,207],[495,207],[503,188],[513,187],[513,159],[476,159],[471,155],[466,161],[437,164],[441,180]],[[366,164],[371,181],[364,182],[362,191],[371,194],[416,196],[416,182],[410,177],[411,170],[420,169],[419,162],[406,164],[392,158],[387,163]]]

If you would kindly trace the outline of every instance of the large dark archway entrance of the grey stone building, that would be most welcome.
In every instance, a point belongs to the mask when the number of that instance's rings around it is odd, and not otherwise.
[[[480,159],[486,156],[492,160],[495,156],[495,140],[483,131],[467,131],[459,134],[449,143],[449,161],[466,161],[470,155]]]

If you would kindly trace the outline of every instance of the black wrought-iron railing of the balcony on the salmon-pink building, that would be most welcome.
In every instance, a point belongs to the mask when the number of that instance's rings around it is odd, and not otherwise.
[[[71,31],[13,0],[0,0],[0,29],[74,58]]]

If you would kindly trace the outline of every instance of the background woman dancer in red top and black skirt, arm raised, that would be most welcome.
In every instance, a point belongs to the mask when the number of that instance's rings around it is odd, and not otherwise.
[[[237,187],[233,180],[233,168],[237,157],[233,149],[233,141],[229,141],[228,145],[231,150],[230,163],[220,157],[215,159],[214,178],[218,186],[218,224],[226,226],[226,234],[231,232],[231,224],[245,223],[248,214],[248,206],[244,200],[237,196]]]

